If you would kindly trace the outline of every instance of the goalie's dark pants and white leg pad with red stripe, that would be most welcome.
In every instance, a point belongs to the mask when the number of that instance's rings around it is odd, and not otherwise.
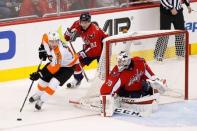
[[[151,85],[143,81],[139,91],[128,92],[124,88],[118,91],[120,106],[136,112],[152,113],[158,109],[159,93],[154,93]]]

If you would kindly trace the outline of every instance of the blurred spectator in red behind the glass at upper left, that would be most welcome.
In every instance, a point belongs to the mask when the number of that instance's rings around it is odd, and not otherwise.
[[[48,0],[23,0],[19,16],[38,15],[42,17],[46,13],[56,12],[56,7]]]

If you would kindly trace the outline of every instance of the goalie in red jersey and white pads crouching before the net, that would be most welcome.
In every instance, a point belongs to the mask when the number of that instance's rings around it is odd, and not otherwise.
[[[119,53],[117,62],[100,89],[101,115],[112,116],[119,107],[136,112],[156,111],[166,81],[158,79],[143,58],[130,58],[125,51]]]

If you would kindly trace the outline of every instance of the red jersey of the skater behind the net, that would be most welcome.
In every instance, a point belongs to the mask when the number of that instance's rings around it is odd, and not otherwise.
[[[83,30],[80,26],[80,21],[75,21],[70,28],[71,32],[74,30],[83,39],[83,50],[87,57],[100,57],[102,52],[103,43],[102,40],[108,35],[105,34],[98,26],[91,23],[90,26]],[[66,32],[65,39],[68,41],[71,39],[72,33]]]

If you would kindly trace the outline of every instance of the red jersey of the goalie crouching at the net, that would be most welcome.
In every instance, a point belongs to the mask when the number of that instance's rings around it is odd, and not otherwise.
[[[154,75],[145,60],[140,57],[131,58],[127,69],[119,71],[116,65],[111,71],[108,79],[102,85],[101,95],[118,93],[121,88],[128,93],[138,92],[142,89],[143,81]]]

